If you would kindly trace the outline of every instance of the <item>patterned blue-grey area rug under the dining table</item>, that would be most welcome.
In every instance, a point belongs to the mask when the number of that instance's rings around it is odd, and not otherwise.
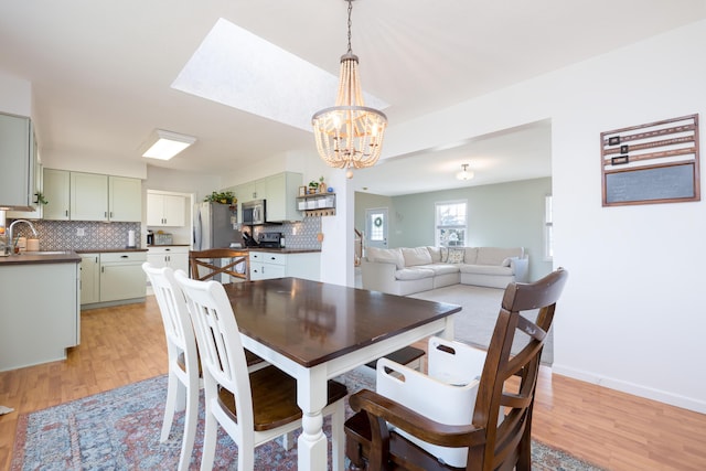
[[[364,367],[363,367],[364,368]],[[350,392],[371,387],[365,370],[338,378]],[[170,439],[159,442],[167,376],[146,379],[106,393],[50,407],[19,419],[12,471],[19,470],[156,470],[176,469],[183,413]],[[352,414],[350,409],[346,414]],[[329,433],[330,426],[324,425]],[[203,410],[190,469],[199,469],[203,440]],[[533,445],[533,469],[539,471],[598,471],[568,453],[539,442]],[[221,430],[214,469],[237,467],[237,448]],[[297,447],[287,451],[279,442],[257,449],[256,470],[296,470]]]

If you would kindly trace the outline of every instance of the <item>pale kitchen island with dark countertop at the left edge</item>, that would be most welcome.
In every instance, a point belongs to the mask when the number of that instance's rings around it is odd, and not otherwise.
[[[81,339],[73,251],[0,257],[0,371],[66,358]]]

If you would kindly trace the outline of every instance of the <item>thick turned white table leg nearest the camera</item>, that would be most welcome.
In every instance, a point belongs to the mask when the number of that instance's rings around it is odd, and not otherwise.
[[[323,433],[322,409],[327,405],[327,376],[323,367],[302,368],[297,375],[297,404],[302,411],[298,445],[298,469],[325,471],[328,443]]]

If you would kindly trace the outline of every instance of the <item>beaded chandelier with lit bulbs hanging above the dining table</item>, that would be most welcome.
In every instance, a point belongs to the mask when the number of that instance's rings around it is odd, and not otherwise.
[[[363,100],[361,79],[357,73],[357,56],[351,50],[351,11],[349,2],[349,50],[341,56],[341,77],[335,106],[313,115],[311,124],[319,156],[327,164],[346,169],[373,167],[383,148],[387,117],[377,109],[368,108]]]

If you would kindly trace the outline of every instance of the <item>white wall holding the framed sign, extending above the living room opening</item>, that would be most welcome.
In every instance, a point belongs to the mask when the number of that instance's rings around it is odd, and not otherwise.
[[[554,371],[702,413],[706,203],[602,207],[599,136],[706,119],[704,44],[700,21],[393,127],[385,142],[403,154],[550,118],[555,266],[570,274]]]

